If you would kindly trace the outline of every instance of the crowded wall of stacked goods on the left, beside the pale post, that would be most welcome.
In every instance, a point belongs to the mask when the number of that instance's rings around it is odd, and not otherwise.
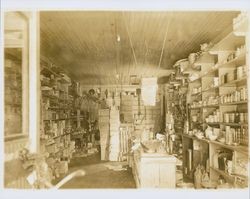
[[[78,89],[79,90],[79,89]],[[75,151],[71,134],[80,126],[80,111],[74,106],[75,84],[58,68],[42,63],[41,152],[48,152],[48,166],[54,177],[68,171],[68,162]]]

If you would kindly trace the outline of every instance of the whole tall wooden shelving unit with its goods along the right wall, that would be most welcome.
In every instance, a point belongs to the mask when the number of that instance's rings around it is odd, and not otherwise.
[[[223,177],[231,187],[248,186],[248,62],[244,31],[234,29],[195,62],[200,70],[199,76],[189,82],[189,130],[204,132],[210,127],[219,131],[222,139],[183,135],[183,171],[188,179],[194,179],[195,167],[201,164],[212,181]],[[199,160],[195,148],[204,152],[207,161]],[[218,165],[218,152],[229,154],[231,169]]]

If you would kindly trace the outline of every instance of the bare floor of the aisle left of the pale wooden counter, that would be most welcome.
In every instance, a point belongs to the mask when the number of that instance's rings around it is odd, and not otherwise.
[[[124,163],[123,167],[125,167]],[[69,164],[69,173],[78,169],[86,171],[83,177],[77,177],[66,183],[63,189],[84,188],[136,188],[131,168],[114,171],[108,167],[119,167],[120,162],[100,161],[100,154],[73,158]]]

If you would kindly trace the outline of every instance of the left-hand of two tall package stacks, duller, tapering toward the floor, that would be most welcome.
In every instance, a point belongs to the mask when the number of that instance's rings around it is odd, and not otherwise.
[[[99,117],[99,130],[100,130],[101,160],[108,160],[109,109],[100,109],[98,117]]]

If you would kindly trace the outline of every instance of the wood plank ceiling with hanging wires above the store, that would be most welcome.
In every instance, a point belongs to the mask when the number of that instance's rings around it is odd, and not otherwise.
[[[169,75],[177,60],[212,41],[237,14],[41,12],[41,54],[82,84],[129,84],[131,75]]]

